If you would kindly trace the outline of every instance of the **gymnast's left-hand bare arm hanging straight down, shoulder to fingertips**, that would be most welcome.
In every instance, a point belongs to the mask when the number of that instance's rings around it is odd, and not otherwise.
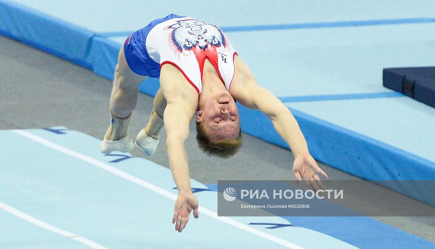
[[[192,193],[184,147],[190,121],[197,109],[198,95],[181,72],[169,64],[161,68],[160,85],[167,101],[164,124],[169,165],[178,190],[172,223],[176,223],[175,229],[181,232],[189,221],[191,211],[198,218],[198,201]]]

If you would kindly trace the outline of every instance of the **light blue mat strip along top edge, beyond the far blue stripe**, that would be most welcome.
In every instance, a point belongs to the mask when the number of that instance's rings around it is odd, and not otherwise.
[[[224,0],[174,2],[105,0],[13,0],[42,13],[65,20],[96,33],[135,31],[152,20],[176,13],[192,16],[218,26],[252,26],[312,23],[343,20],[434,17],[428,1],[376,1],[349,4],[346,0],[313,4],[311,1],[253,0],[248,3]],[[72,11],[73,10],[73,11]]]

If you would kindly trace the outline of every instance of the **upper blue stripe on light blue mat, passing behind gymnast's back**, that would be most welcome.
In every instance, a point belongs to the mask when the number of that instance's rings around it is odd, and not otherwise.
[[[328,27],[374,26],[374,25],[387,25],[387,24],[434,23],[434,22],[435,22],[435,18],[418,17],[418,18],[359,20],[359,21],[342,21],[342,22],[228,26],[228,27],[221,27],[221,29],[224,32],[237,32],[237,31],[258,31],[258,30],[271,30],[271,29],[312,29],[312,28],[328,28]],[[105,36],[105,37],[129,36],[133,32],[134,31],[102,32],[102,33],[97,33],[97,35]]]

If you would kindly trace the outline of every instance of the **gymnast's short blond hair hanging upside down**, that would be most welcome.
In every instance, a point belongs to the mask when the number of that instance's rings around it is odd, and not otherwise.
[[[196,140],[198,146],[209,156],[215,155],[224,159],[234,156],[242,145],[242,131],[234,140],[221,140],[213,143],[206,135],[206,130],[201,122],[196,122]]]

